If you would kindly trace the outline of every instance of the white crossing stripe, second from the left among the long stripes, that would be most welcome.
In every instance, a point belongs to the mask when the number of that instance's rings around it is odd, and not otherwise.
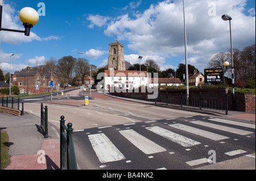
[[[145,154],[154,154],[166,151],[166,149],[162,148],[162,146],[159,146],[151,140],[148,140],[146,137],[133,131],[133,129],[122,130],[119,132]]]

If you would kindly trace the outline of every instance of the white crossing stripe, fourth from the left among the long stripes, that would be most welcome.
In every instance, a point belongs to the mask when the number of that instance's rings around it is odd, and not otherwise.
[[[197,134],[199,136],[203,136],[205,138],[209,138],[210,140],[214,140],[214,141],[220,141],[220,140],[225,140],[229,138],[226,136],[222,136],[220,134],[204,131],[203,129],[189,127],[188,125],[184,125],[184,124],[169,124],[169,126],[172,128],[180,129],[182,131]]]

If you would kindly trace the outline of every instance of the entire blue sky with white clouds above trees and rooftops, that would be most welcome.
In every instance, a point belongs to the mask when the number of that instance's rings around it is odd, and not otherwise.
[[[19,11],[38,4],[46,15],[23,33],[1,33],[0,68],[8,72],[36,66],[53,57],[92,57],[92,64],[108,64],[108,45],[115,39],[125,46],[125,60],[139,63],[138,56],[155,60],[161,70],[185,63],[182,1],[49,1],[3,0],[3,28],[23,30]],[[255,44],[255,1],[184,0],[187,26],[188,64],[200,71],[214,54],[230,49],[229,23],[232,16],[233,48]],[[78,54],[84,52],[85,55]]]

